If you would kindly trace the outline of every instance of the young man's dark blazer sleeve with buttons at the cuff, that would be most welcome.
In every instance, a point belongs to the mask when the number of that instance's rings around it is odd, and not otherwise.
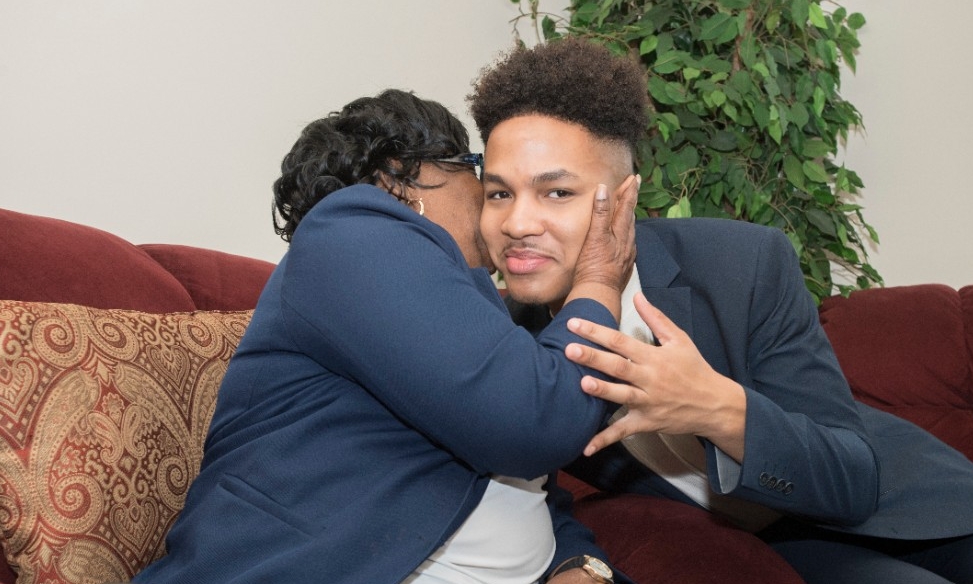
[[[878,501],[878,466],[851,391],[776,230],[758,247],[746,327],[742,466],[709,445],[717,492],[818,522],[855,525]]]

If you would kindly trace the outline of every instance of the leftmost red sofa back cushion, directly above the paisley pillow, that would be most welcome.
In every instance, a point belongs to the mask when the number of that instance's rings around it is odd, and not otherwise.
[[[0,298],[149,312],[193,310],[179,281],[111,233],[0,209]]]

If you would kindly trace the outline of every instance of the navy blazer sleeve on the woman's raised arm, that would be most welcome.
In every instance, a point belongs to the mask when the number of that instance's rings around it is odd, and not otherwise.
[[[582,342],[565,323],[617,326],[607,309],[569,303],[535,340],[439,226],[381,206],[329,211],[305,217],[288,251],[296,346],[479,473],[534,478],[580,454],[607,405],[580,391],[593,372],[564,357]]]

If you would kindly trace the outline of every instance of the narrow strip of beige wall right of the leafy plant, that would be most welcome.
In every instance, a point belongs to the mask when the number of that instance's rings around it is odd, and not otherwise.
[[[844,96],[865,120],[846,164],[865,183],[865,217],[887,285],[973,284],[973,4],[845,0],[867,19]]]

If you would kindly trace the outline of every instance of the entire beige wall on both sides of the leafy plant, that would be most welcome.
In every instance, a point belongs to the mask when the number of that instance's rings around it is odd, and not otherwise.
[[[890,285],[973,283],[973,4],[844,3],[868,19],[844,93],[867,126],[846,161],[882,237],[874,264]],[[469,123],[469,82],[516,14],[509,0],[0,0],[0,206],[276,261],[270,184],[300,129],[387,86]]]

